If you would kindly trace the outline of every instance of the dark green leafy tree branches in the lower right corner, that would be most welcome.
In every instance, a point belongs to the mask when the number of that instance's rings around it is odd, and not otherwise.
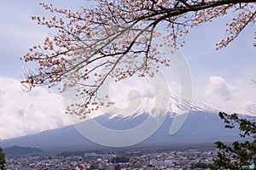
[[[239,118],[237,114],[228,115],[220,112],[219,116],[225,122],[226,128],[234,128],[237,124],[241,131],[242,142],[235,141],[232,145],[216,142],[218,158],[210,166],[212,169],[241,169],[242,166],[256,164],[256,122]]]

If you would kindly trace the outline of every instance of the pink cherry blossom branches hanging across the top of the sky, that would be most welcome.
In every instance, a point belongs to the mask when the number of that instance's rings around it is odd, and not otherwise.
[[[153,77],[159,65],[171,63],[160,54],[159,46],[169,46],[173,52],[183,47],[192,27],[232,14],[233,19],[226,24],[227,37],[216,44],[217,49],[226,47],[246,26],[255,24],[255,2],[99,0],[96,7],[76,12],[40,3],[53,16],[32,16],[32,20],[56,33],[20,58],[38,64],[36,70],[25,71],[21,82],[27,90],[41,85],[52,88],[64,82],[60,90],[65,91],[80,84],[81,88],[76,90],[83,96],[83,102],[70,105],[67,112],[83,117],[96,111],[99,105],[112,104],[97,96],[108,77],[116,81],[134,75]],[[165,28],[161,29],[165,42],[154,44],[160,27]]]

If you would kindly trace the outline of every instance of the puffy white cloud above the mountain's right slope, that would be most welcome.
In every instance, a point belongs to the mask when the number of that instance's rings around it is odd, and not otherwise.
[[[254,92],[253,92],[254,90]],[[230,113],[250,113],[255,109],[255,89],[242,88],[238,84],[233,85],[223,77],[210,77],[204,93],[205,102],[208,105]],[[254,108],[254,109],[253,109]]]

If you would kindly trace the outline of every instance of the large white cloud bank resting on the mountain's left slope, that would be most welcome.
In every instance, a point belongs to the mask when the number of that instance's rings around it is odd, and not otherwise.
[[[69,124],[61,95],[44,88],[23,92],[20,82],[0,77],[0,138],[9,139]]]

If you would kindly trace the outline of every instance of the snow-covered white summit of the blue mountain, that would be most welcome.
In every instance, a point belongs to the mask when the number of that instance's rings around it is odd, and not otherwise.
[[[167,102],[167,103],[166,103]],[[130,107],[130,108],[129,108]],[[217,108],[207,105],[203,102],[191,99],[182,99],[181,97],[169,94],[167,101],[156,101],[155,97],[150,96],[142,99],[133,99],[130,105],[124,108],[108,108],[105,113],[108,113],[109,118],[134,118],[141,114],[148,113],[150,116],[163,116],[164,114],[171,114],[172,116],[182,115],[189,111],[206,111],[218,113]]]

